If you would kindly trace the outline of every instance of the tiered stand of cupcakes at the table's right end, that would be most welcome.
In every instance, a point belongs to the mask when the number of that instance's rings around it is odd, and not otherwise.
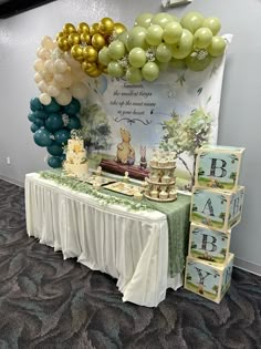
[[[149,178],[146,178],[147,185],[144,195],[158,202],[176,201],[176,153],[155,153],[149,161],[149,167],[150,174]]]

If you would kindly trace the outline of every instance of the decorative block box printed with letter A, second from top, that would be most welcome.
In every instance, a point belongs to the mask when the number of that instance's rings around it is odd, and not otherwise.
[[[236,193],[194,187],[190,222],[228,233],[241,219],[243,195],[243,186],[239,186]]]

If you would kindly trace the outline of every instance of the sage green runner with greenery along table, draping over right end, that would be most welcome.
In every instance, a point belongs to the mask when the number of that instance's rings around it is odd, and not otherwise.
[[[167,203],[155,202],[144,197],[142,203],[137,203],[132,196],[118,194],[103,187],[98,192],[94,191],[92,185],[73,177],[67,177],[61,171],[44,171],[40,175],[73,191],[94,195],[105,204],[119,204],[129,207],[129,209],[155,209],[164,213],[168,222],[169,276],[173,277],[175,274],[184,271],[189,236],[190,196],[178,194],[177,201]]]

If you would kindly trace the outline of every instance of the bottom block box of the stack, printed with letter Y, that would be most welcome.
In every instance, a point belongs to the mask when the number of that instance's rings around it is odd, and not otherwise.
[[[228,263],[217,266],[209,261],[187,257],[184,288],[215,302],[220,302],[231,283],[233,254]]]

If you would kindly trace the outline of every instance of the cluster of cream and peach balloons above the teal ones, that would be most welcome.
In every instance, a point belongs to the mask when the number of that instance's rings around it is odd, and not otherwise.
[[[86,97],[87,88],[82,82],[85,74],[81,64],[63,53],[55,41],[43,37],[36,55],[34,81],[41,91],[39,99],[43,105],[49,105],[52,97],[61,105],[69,104],[72,97]]]

